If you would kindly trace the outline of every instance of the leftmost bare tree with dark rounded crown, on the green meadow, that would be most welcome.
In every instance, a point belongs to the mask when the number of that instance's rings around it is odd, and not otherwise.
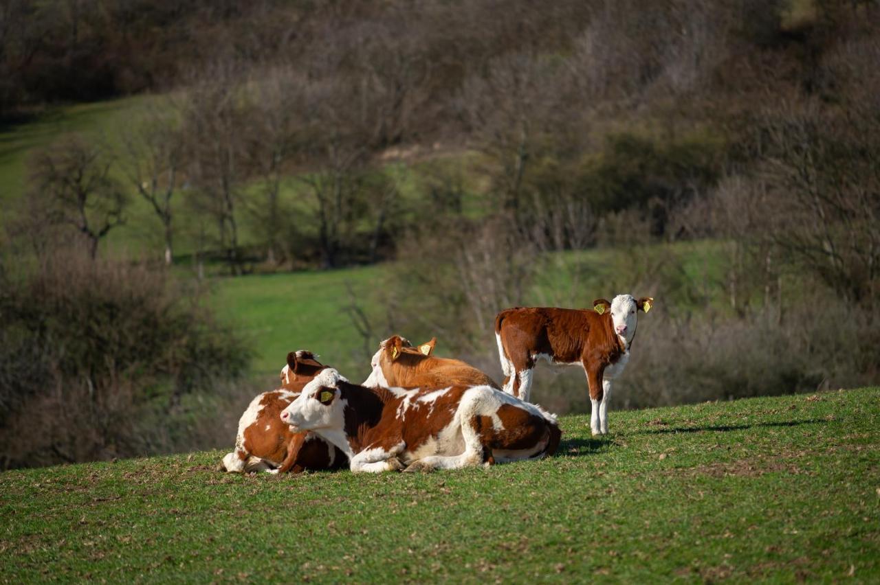
[[[89,256],[111,229],[125,222],[125,191],[110,176],[110,161],[95,141],[70,134],[31,160],[33,195],[45,202],[47,219],[74,227],[88,242]]]

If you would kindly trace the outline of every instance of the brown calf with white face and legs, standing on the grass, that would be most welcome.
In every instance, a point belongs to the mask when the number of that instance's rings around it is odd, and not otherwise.
[[[532,388],[532,369],[539,359],[557,365],[580,365],[587,375],[593,435],[608,432],[612,379],[629,361],[638,311],[647,313],[654,300],[619,294],[593,309],[517,307],[495,316],[495,338],[504,372],[504,392],[524,401]]]

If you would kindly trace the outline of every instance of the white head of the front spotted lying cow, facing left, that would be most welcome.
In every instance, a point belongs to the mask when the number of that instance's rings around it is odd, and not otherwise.
[[[282,423],[289,424],[292,430],[341,429],[345,423],[345,403],[339,398],[340,380],[344,378],[333,368],[319,372],[297,400],[281,411]]]

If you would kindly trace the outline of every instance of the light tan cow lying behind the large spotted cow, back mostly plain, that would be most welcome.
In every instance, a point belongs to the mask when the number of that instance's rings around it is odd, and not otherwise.
[[[363,386],[401,386],[443,388],[445,386],[492,386],[501,389],[494,379],[473,365],[458,359],[435,358],[431,354],[436,337],[413,347],[401,336],[392,336],[379,343],[379,350],[370,361],[373,371]]]

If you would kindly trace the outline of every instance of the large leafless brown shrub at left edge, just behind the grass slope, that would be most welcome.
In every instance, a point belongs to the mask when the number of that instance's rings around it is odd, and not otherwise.
[[[187,422],[213,414],[193,401],[226,400],[214,385],[246,365],[238,339],[164,272],[63,249],[2,277],[5,467],[185,447]]]

